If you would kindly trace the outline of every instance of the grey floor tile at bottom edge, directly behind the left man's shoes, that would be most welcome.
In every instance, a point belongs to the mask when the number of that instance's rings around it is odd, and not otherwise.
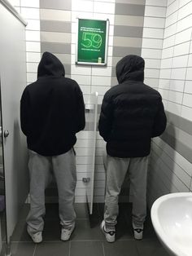
[[[68,256],[69,242],[45,242],[37,245],[34,256]],[[26,255],[25,255],[26,256]],[[28,256],[28,255],[27,255]]]

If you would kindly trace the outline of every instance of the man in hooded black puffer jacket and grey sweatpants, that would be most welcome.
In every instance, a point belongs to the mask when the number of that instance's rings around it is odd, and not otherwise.
[[[116,64],[119,85],[104,95],[98,130],[107,142],[107,188],[102,230],[115,241],[118,196],[129,171],[133,192],[133,231],[142,239],[146,218],[146,174],[151,138],[161,135],[167,123],[157,90],[143,83],[145,62],[127,55]]]

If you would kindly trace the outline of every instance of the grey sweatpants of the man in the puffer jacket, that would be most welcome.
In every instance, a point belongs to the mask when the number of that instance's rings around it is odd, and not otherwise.
[[[124,177],[129,172],[133,193],[133,223],[142,227],[146,218],[146,175],[148,157],[118,158],[107,155],[107,177],[104,220],[108,229],[114,229],[119,214],[118,199]]]

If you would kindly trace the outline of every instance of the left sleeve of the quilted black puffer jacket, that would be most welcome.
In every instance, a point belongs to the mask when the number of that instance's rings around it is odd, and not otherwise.
[[[113,108],[110,99],[105,95],[103,98],[103,104],[101,109],[101,114],[98,120],[98,130],[99,134],[103,137],[105,141],[110,139],[111,126],[113,119]]]

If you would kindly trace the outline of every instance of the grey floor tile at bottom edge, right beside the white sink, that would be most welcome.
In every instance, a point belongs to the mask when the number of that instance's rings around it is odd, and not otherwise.
[[[137,250],[139,256],[168,256],[163,246],[158,240],[137,241]]]

